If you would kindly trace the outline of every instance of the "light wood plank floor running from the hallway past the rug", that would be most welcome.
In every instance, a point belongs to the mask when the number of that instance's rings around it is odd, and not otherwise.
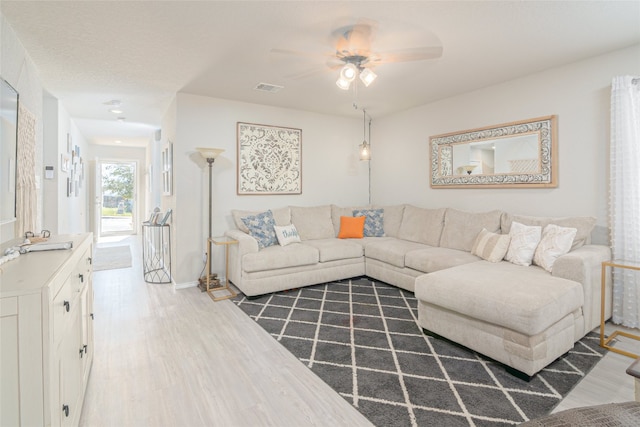
[[[94,273],[95,359],[82,426],[371,426],[230,301],[175,291],[133,266]],[[633,400],[631,359],[609,353],[556,410]]]

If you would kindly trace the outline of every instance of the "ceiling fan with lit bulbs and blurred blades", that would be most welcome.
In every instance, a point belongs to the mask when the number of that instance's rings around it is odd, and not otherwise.
[[[292,74],[289,78],[303,78],[326,70],[340,69],[336,85],[348,90],[356,77],[365,86],[369,86],[377,75],[373,68],[388,63],[422,61],[442,56],[442,46],[422,46],[395,49],[386,52],[375,50],[378,24],[372,20],[360,20],[355,24],[342,26],[331,33],[329,43],[333,50],[309,52],[304,50],[272,49],[275,54],[293,55],[308,60],[324,62],[324,66],[302,73]]]

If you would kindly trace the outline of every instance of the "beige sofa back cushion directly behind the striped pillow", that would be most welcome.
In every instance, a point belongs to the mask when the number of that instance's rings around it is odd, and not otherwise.
[[[447,209],[440,244],[443,248],[471,252],[478,233],[485,228],[491,233],[500,231],[502,211],[464,212]]]

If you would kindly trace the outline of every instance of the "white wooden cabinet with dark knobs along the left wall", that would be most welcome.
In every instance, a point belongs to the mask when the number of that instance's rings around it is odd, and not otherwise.
[[[92,241],[0,272],[0,425],[77,426],[93,361]]]

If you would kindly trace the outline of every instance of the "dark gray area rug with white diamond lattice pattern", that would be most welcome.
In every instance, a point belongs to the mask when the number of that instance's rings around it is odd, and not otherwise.
[[[526,382],[426,336],[412,292],[366,277],[233,301],[376,426],[502,426],[544,416],[606,352],[592,332]]]

